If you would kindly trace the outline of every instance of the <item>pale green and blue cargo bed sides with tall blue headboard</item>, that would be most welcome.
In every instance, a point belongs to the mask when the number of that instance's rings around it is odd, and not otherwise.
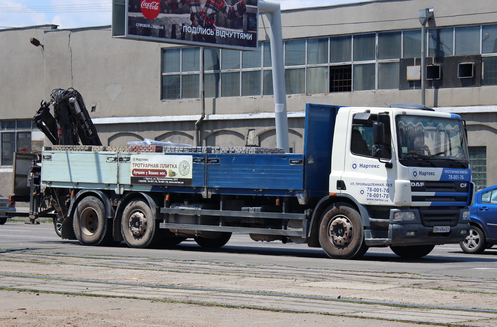
[[[133,183],[133,152],[45,151],[43,181],[52,187],[142,190],[268,196],[326,196],[337,106],[306,106],[304,154],[294,153],[140,153],[191,156],[189,185]],[[128,157],[128,160],[122,160]],[[131,160],[129,160],[131,158]],[[150,157],[152,158],[152,157]],[[166,158],[166,157],[164,157]],[[152,159],[151,159],[152,161]],[[119,173],[117,173],[119,172]],[[167,176],[166,176],[167,177]],[[100,186],[98,186],[100,185]],[[118,187],[116,187],[118,185]]]

